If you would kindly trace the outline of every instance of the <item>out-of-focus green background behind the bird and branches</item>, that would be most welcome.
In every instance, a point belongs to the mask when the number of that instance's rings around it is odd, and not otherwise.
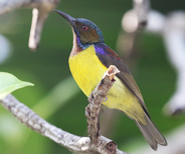
[[[152,9],[165,15],[183,10],[184,6],[184,0],[151,1]],[[96,23],[104,34],[105,43],[124,55],[117,48],[117,40],[123,31],[123,15],[132,8],[130,0],[61,0],[56,9]],[[87,136],[84,111],[88,101],[73,81],[68,67],[72,49],[71,27],[51,12],[44,24],[39,48],[33,52],[28,48],[31,19],[31,9],[19,9],[0,16],[0,71],[35,84],[13,92],[19,101],[51,124],[75,135]],[[161,35],[142,33],[136,51],[132,57],[134,62],[128,65],[154,123],[166,136],[184,123],[183,116],[169,117],[162,112],[175,91],[176,71],[169,63]],[[132,120],[119,111],[113,112],[106,108],[102,112],[103,135],[128,153],[148,146]],[[0,149],[3,154],[71,153],[22,125],[3,107],[0,107]]]

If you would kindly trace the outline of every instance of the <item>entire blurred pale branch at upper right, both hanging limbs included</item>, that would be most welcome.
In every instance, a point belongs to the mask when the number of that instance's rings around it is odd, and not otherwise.
[[[149,6],[149,0],[134,0],[134,8],[126,12],[122,19],[122,28],[128,34],[120,33],[117,48],[125,51],[127,59],[130,58],[138,41],[139,23],[147,19],[146,31],[163,37],[169,61],[177,72],[176,90],[163,111],[166,115],[178,115],[185,112],[185,12],[174,11],[164,16],[149,10]]]

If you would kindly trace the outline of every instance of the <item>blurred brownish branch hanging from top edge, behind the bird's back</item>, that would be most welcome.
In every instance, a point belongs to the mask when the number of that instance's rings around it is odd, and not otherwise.
[[[124,31],[119,34],[117,50],[124,53],[126,63],[129,65],[134,61],[131,57],[137,55],[136,46],[141,31],[147,26],[149,12],[150,0],[133,0],[133,9],[127,11],[122,18],[121,24]]]

